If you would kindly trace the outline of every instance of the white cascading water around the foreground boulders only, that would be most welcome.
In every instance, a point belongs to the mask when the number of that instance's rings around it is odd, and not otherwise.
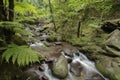
[[[64,55],[66,58],[69,58],[69,56],[65,55],[64,52],[61,52],[62,55]],[[91,73],[96,73],[99,76],[101,76],[102,79],[99,80],[108,80],[105,78],[95,67],[94,62],[90,61],[84,54],[80,53],[78,55],[74,54],[72,57],[72,63],[79,62],[81,66],[83,67],[83,70],[85,72],[85,80],[92,80]],[[56,78],[52,75],[51,69],[49,68],[47,63],[42,64],[45,67],[45,71],[43,72],[49,80],[61,80],[59,78]],[[70,63],[68,64],[68,77],[69,79],[63,79],[63,80],[75,80],[76,77],[70,72]]]

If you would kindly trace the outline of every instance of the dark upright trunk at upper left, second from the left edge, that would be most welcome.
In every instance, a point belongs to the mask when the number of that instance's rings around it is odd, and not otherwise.
[[[9,0],[9,21],[14,19],[14,0]]]

